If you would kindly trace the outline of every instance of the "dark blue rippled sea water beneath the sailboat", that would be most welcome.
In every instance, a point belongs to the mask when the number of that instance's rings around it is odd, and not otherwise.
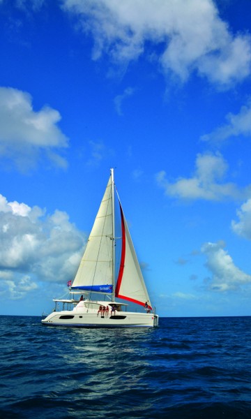
[[[0,316],[0,418],[251,418],[251,317],[80,329]]]

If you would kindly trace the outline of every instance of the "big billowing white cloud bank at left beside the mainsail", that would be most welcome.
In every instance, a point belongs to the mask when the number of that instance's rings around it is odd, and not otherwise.
[[[83,251],[84,237],[68,214],[8,202],[0,195],[0,293],[20,298],[39,282],[66,284]]]

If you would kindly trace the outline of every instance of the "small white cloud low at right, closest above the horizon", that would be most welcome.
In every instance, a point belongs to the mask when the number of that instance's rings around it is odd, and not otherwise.
[[[206,256],[206,267],[211,272],[212,277],[207,280],[207,287],[211,291],[234,291],[243,284],[251,283],[251,275],[240,270],[231,256],[224,249],[225,244],[206,243],[201,248]]]

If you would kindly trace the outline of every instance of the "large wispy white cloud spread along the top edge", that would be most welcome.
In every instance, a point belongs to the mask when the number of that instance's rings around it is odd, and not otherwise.
[[[247,34],[231,34],[212,0],[63,0],[93,35],[93,59],[128,64],[145,53],[182,81],[192,71],[220,85],[250,74]]]

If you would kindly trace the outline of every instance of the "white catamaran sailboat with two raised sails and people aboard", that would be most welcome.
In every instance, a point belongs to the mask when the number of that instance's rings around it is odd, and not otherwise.
[[[158,325],[158,315],[151,305],[114,183],[113,169],[77,274],[68,286],[70,297],[54,299],[55,309],[42,320],[43,325],[82,328]],[[136,308],[130,311],[130,305]]]

